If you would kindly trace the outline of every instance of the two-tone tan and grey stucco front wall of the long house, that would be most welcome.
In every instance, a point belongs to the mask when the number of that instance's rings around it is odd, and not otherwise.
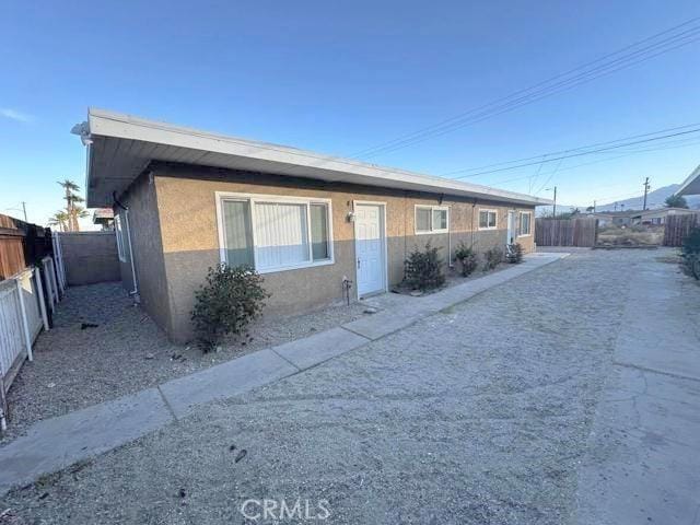
[[[215,211],[215,191],[262,194],[276,196],[300,196],[331,200],[335,264],[295,270],[266,273],[265,288],[272,293],[268,300],[267,314],[300,312],[318,306],[342,296],[342,279],[355,280],[354,230],[347,221],[353,201],[377,201],[386,205],[387,264],[389,284],[404,278],[404,260],[415,247],[422,247],[428,241],[441,247],[441,254],[447,265],[448,244],[454,252],[459,241],[474,245],[478,252],[492,246],[504,247],[506,237],[508,210],[516,209],[488,201],[445,198],[440,205],[439,198],[399,190],[384,190],[351,185],[325,184],[308,179],[292,179],[265,174],[228,172],[198,166],[161,165],[154,167],[153,186],[147,192],[152,203],[156,198],[158,218],[143,215],[148,232],[162,240],[164,278],[155,271],[156,283],[151,285],[153,301],[164,301],[163,284],[167,295],[166,315],[162,322],[162,312],[156,322],[164,326],[175,340],[184,341],[191,337],[189,315],[194,304],[195,290],[203,282],[207,269],[220,261],[219,236]],[[141,184],[143,184],[141,182]],[[141,187],[141,190],[144,188]],[[451,234],[415,234],[415,205],[448,206],[451,210]],[[498,211],[498,229],[478,230],[479,208]],[[520,208],[532,211],[530,209]],[[518,210],[520,210],[518,209]],[[131,213],[131,212],[130,212]],[[148,219],[148,220],[147,220]],[[154,225],[159,225],[160,232]],[[535,220],[533,214],[532,229]],[[133,237],[132,225],[132,237]],[[517,240],[526,252],[534,249],[534,235]],[[135,250],[139,250],[135,247]],[[149,247],[154,257],[154,266],[160,265],[155,250],[158,243]],[[452,254],[450,254],[452,255]],[[138,257],[137,257],[138,260]],[[142,265],[138,265],[142,266]],[[144,268],[145,269],[145,268]],[[153,273],[153,270],[151,270]],[[139,269],[139,273],[141,270]],[[143,289],[148,277],[140,278]],[[148,285],[148,284],[147,284]],[[145,301],[144,301],[145,303]],[[147,308],[148,310],[148,308]],[[149,310],[150,312],[150,310]]]

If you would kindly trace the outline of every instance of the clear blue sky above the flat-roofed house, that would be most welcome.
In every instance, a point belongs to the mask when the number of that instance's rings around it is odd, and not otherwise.
[[[83,184],[70,128],[88,106],[352,155],[693,16],[697,0],[5,0],[0,213],[24,200],[43,223],[62,206],[56,180]],[[698,57],[700,42],[369,160],[441,175],[700,121]],[[565,203],[631,197],[646,176],[652,188],[681,182],[700,144],[573,168],[611,156],[563,161],[547,186]],[[553,167],[468,180],[537,191]]]

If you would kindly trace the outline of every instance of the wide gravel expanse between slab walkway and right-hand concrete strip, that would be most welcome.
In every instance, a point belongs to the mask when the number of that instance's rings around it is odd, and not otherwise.
[[[1,506],[28,523],[218,524],[246,523],[247,499],[300,498],[327,500],[317,523],[567,523],[637,261],[660,252],[578,252]]]

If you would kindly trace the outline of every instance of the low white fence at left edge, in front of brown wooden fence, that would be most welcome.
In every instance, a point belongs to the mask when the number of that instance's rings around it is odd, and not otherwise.
[[[46,284],[56,287],[55,291],[47,288],[52,308],[59,299],[54,261],[46,257],[42,264],[46,268]],[[48,330],[43,284],[37,268],[27,268],[0,281],[0,430],[5,428],[5,394],[24,360],[34,359],[32,346],[42,328]]]

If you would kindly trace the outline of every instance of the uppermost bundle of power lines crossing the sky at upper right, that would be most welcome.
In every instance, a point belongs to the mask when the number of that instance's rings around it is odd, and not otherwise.
[[[421,130],[417,130],[417,131],[415,131],[412,133],[405,135],[402,137],[399,137],[397,139],[394,139],[394,140],[387,141],[387,142],[384,142],[384,143],[378,144],[376,147],[368,148],[365,150],[362,150],[359,153],[355,153],[352,156],[353,158],[369,156],[369,155],[378,154],[380,152],[394,151],[395,149],[404,148],[406,145],[410,145],[410,144],[416,143],[418,141],[427,140],[428,138],[431,138],[435,133],[441,133],[442,135],[443,131],[447,132],[447,131],[452,131],[454,129],[457,129],[458,127],[462,127],[463,125],[474,124],[474,122],[470,121],[474,118],[478,118],[480,116],[483,116],[485,118],[486,117],[490,117],[490,116],[494,116],[497,114],[503,113],[504,110],[511,110],[511,109],[514,109],[515,107],[520,107],[521,105],[524,105],[525,103],[529,104],[532,102],[535,102],[537,100],[542,98],[544,96],[540,96],[539,98],[535,98],[535,100],[529,100],[529,101],[527,100],[528,97],[532,97],[533,95],[537,95],[537,94],[540,94],[540,93],[545,93],[545,92],[547,92],[547,90],[561,88],[561,86],[564,86],[567,83],[571,83],[571,82],[574,82],[574,81],[582,81],[582,82],[576,82],[575,83],[575,85],[580,85],[580,83],[587,82],[587,81],[594,80],[595,78],[599,77],[599,75],[591,77],[591,73],[602,72],[602,71],[604,72],[604,74],[611,73],[611,72],[618,71],[619,69],[622,69],[622,68],[615,68],[615,69],[609,70],[609,71],[605,71],[605,70],[609,69],[609,68],[611,68],[611,67],[614,67],[616,65],[625,63],[626,61],[630,62],[630,63],[626,65],[625,67],[629,67],[629,66],[632,66],[634,63],[639,63],[639,61],[643,61],[645,59],[653,58],[653,57],[655,57],[655,56],[657,56],[660,54],[668,52],[668,51],[670,51],[670,50],[673,50],[673,49],[675,49],[677,47],[691,44],[692,42],[695,42],[697,39],[697,38],[693,38],[698,34],[698,31],[699,31],[699,27],[697,27],[697,26],[688,28],[688,30],[685,30],[685,31],[682,31],[680,33],[674,34],[673,36],[669,36],[669,37],[666,37],[666,38],[664,38],[662,40],[655,42],[654,44],[651,44],[651,45],[649,45],[646,47],[642,47],[641,49],[637,49],[637,50],[634,50],[632,52],[629,52],[629,54],[627,54],[627,55],[625,55],[622,57],[616,58],[615,60],[608,61],[607,63],[603,63],[603,65],[599,65],[599,66],[597,66],[597,67],[595,67],[593,69],[586,70],[586,68],[590,68],[591,66],[594,66],[594,65],[599,63],[599,62],[604,62],[605,60],[607,60],[607,59],[609,59],[611,57],[615,57],[616,55],[621,55],[625,51],[628,51],[628,50],[630,50],[632,48],[639,47],[639,46],[641,46],[643,44],[646,44],[646,43],[649,43],[651,40],[654,40],[654,39],[656,39],[656,38],[658,38],[658,37],[661,37],[663,35],[667,35],[668,33],[676,32],[677,30],[679,30],[681,27],[685,27],[685,26],[688,26],[688,25],[697,22],[698,20],[700,20],[700,18],[690,19],[690,20],[688,20],[688,21],[686,21],[686,22],[684,22],[681,24],[678,24],[678,25],[676,25],[674,27],[670,27],[668,30],[665,30],[663,32],[656,33],[656,34],[654,34],[654,35],[652,35],[650,37],[646,37],[646,38],[644,38],[642,40],[639,40],[639,42],[637,42],[634,44],[631,44],[631,45],[628,45],[628,46],[626,46],[626,47],[623,47],[621,49],[618,49],[617,51],[614,51],[614,52],[610,52],[608,55],[605,55],[605,56],[603,56],[603,57],[600,57],[600,58],[598,58],[596,60],[592,60],[592,61],[586,62],[586,63],[584,63],[582,66],[579,66],[576,68],[570,69],[570,70],[568,70],[568,71],[565,71],[563,73],[560,73],[560,74],[557,74],[555,77],[551,77],[551,78],[549,78],[549,79],[547,79],[545,81],[541,81],[539,83],[536,83],[536,84],[534,84],[534,85],[532,85],[529,88],[526,88],[526,89],[523,89],[523,90],[518,90],[518,91],[516,91],[516,92],[514,92],[514,93],[512,93],[510,95],[506,95],[504,97],[498,98],[498,100],[495,100],[493,102],[490,102],[488,104],[481,105],[481,106],[476,107],[474,109],[470,109],[468,112],[464,112],[464,113],[462,113],[459,115],[456,115],[454,117],[451,117],[451,118],[447,118],[445,120],[442,120],[441,122],[438,122],[435,125],[428,126],[428,127],[425,127],[425,128],[423,128]],[[679,45],[676,45],[676,44],[679,44]],[[654,52],[654,51],[658,51],[660,49],[663,49],[663,50],[661,52]],[[642,58],[640,56],[644,56],[644,57]],[[639,58],[642,58],[642,60],[638,60]],[[630,60],[630,59],[632,59],[632,60]],[[565,79],[565,80],[557,82],[557,83],[555,83],[552,85],[548,85],[547,86],[547,84],[550,84],[551,82],[553,82],[553,81],[556,81],[558,79],[563,79],[563,78],[565,78],[568,75],[571,75],[572,73],[574,73],[576,71],[582,71],[582,72],[580,72],[578,75],[574,75],[574,77],[572,77],[570,79]],[[591,77],[591,78],[586,78],[586,77]],[[570,88],[573,88],[575,85],[572,85]],[[542,86],[545,86],[545,88],[542,88]],[[539,88],[542,88],[542,89],[540,89],[539,91],[535,91],[535,93],[528,93],[528,92],[532,92],[532,91],[537,90]],[[549,93],[546,96],[555,94],[556,92]],[[524,96],[521,96],[520,98],[512,100],[512,98],[517,97],[520,95],[524,95]],[[509,101],[509,102],[505,102],[505,101]],[[514,103],[516,104],[515,106],[509,107],[509,105],[512,105]],[[499,112],[497,114],[493,114],[493,115],[487,115],[488,112],[482,112],[481,114],[474,115],[477,112],[481,112],[481,110],[483,110],[486,108],[489,108],[491,106],[495,106],[498,104],[501,104],[501,106],[497,106],[494,109],[502,108],[503,110],[501,110],[501,112]],[[492,112],[492,110],[493,109],[489,109],[489,112]],[[467,118],[467,117],[469,117],[469,118]]]

